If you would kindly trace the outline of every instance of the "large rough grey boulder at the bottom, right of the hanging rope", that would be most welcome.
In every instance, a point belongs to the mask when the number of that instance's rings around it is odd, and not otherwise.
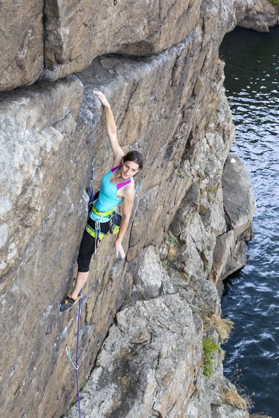
[[[179,295],[137,301],[116,316],[83,389],[85,417],[175,417],[202,361],[186,301]],[[77,415],[77,405],[67,417]]]

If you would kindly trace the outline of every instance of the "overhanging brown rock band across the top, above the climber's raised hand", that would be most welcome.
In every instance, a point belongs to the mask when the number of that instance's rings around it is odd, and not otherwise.
[[[20,0],[9,7],[1,4],[0,91],[33,84],[40,76],[55,80],[80,72],[102,54],[163,52],[183,41],[204,19],[202,10],[208,8],[207,3]],[[252,0],[234,1],[234,10],[232,0],[222,3],[229,30],[252,8]],[[210,7],[213,10],[220,4],[216,0]]]

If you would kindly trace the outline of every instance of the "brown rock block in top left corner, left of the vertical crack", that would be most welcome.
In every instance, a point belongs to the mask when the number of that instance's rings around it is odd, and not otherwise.
[[[43,0],[0,4],[0,91],[33,84],[43,70]]]

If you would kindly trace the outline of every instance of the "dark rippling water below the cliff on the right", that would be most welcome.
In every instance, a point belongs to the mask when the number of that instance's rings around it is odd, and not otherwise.
[[[225,37],[220,58],[236,125],[232,151],[246,162],[257,201],[248,265],[226,281],[222,299],[224,316],[235,323],[224,369],[255,392],[253,412],[278,418],[279,27],[271,33],[237,28]]]

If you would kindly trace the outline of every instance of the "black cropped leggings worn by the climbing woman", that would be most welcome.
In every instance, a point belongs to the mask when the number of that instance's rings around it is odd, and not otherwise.
[[[95,229],[95,222],[89,218],[89,225]],[[100,223],[100,231],[108,233],[110,231],[110,222]],[[89,272],[89,265],[91,257],[95,251],[95,238],[87,231],[84,231],[82,242],[80,244],[80,253],[77,257],[77,271],[86,273]]]

